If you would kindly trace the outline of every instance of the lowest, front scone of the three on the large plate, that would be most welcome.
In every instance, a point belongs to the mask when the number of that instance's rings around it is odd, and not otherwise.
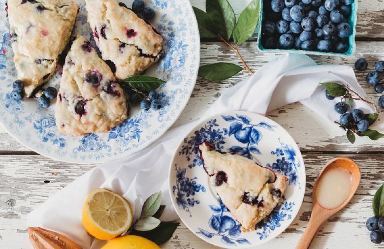
[[[77,35],[69,50],[56,101],[56,125],[72,135],[105,132],[128,118],[128,101],[111,68]]]

